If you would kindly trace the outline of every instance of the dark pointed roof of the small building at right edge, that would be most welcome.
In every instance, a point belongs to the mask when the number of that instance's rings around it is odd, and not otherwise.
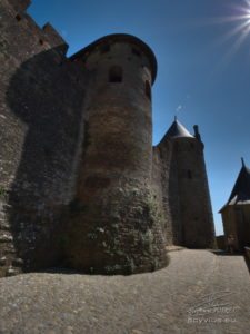
[[[227,202],[227,204],[220,209],[220,212],[227,205],[243,205],[250,204],[250,169],[246,167],[244,160],[242,158],[242,167],[236,180],[232,193]]]

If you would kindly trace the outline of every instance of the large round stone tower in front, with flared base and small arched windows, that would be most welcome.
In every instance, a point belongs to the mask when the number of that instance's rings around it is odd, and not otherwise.
[[[160,213],[150,186],[154,55],[136,37],[111,35],[71,60],[83,63],[90,84],[69,264],[106,274],[163,267]]]

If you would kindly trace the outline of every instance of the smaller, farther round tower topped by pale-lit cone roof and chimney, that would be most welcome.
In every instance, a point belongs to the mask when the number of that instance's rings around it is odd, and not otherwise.
[[[181,244],[190,248],[213,248],[214,225],[203,157],[204,146],[198,126],[194,126],[192,136],[176,119],[164,140],[172,143],[176,160]]]

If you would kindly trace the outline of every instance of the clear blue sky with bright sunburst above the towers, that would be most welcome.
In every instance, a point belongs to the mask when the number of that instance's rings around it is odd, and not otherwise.
[[[33,0],[28,10],[39,26],[49,21],[61,33],[68,56],[114,32],[151,47],[158,60],[153,144],[176,110],[189,130],[199,125],[217,234],[222,234],[218,210],[231,193],[240,157],[250,166],[248,9],[248,0]]]

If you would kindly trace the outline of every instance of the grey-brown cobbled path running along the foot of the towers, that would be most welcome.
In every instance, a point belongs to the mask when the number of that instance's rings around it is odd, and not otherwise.
[[[150,274],[32,273],[0,279],[0,333],[250,333],[243,256],[171,252]]]

